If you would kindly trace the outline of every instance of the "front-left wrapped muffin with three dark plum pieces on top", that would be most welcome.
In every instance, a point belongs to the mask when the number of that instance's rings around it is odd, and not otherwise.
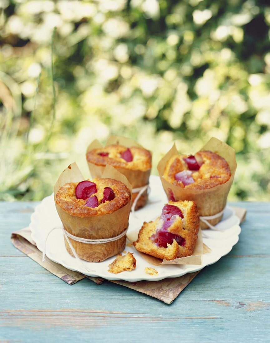
[[[75,167],[77,166],[70,165],[63,173],[72,173],[70,169]],[[111,171],[107,171],[107,174],[111,174]],[[69,177],[63,178],[64,184],[61,185],[60,182],[60,187],[56,187],[55,205],[69,234],[95,240],[116,237],[125,232],[131,206],[131,187],[129,189],[120,180],[108,177],[65,182],[68,179]],[[65,237],[64,239],[68,253],[74,256]],[[124,250],[126,235],[98,244],[82,243],[72,238],[69,241],[79,258],[100,262]]]

